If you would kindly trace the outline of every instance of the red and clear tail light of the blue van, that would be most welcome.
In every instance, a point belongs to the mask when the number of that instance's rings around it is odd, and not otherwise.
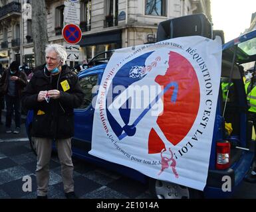
[[[217,141],[216,155],[216,169],[226,170],[229,168],[230,143],[227,140]]]

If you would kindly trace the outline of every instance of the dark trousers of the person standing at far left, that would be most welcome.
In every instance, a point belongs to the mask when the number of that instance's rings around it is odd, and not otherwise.
[[[21,127],[21,99],[19,97],[5,96],[6,103],[6,119],[5,127],[11,127],[11,119],[13,111],[15,112],[15,125]]]

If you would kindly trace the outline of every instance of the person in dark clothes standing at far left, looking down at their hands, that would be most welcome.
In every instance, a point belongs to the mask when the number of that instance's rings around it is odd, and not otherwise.
[[[13,61],[10,68],[3,72],[0,85],[0,93],[5,95],[5,132],[12,132],[11,120],[14,109],[16,128],[13,133],[18,134],[21,129],[21,94],[24,87],[27,85],[27,76],[24,72],[19,71],[19,63],[17,61]]]

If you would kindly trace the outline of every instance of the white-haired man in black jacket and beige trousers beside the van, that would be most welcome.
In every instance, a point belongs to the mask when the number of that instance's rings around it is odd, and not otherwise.
[[[24,107],[34,111],[31,136],[37,151],[37,198],[47,199],[53,140],[65,196],[76,198],[70,138],[74,134],[74,108],[80,106],[84,93],[76,74],[64,65],[67,54],[63,46],[49,44],[45,53],[46,64],[37,68],[23,95]]]

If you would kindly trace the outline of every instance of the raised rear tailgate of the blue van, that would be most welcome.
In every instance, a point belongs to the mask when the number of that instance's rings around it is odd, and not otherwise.
[[[237,63],[244,64],[256,60],[256,30],[242,34],[241,36],[223,44],[223,54],[232,54],[237,45]]]

